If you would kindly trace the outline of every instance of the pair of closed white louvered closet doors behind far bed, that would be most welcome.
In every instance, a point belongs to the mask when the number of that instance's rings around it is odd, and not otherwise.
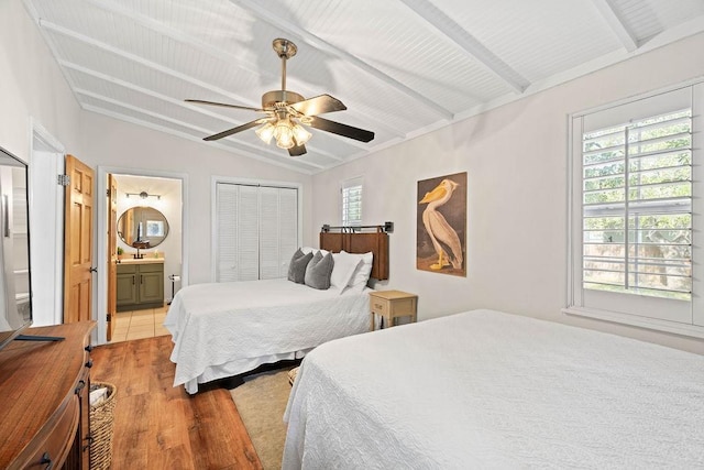
[[[218,183],[216,281],[284,277],[298,247],[298,190]]]

